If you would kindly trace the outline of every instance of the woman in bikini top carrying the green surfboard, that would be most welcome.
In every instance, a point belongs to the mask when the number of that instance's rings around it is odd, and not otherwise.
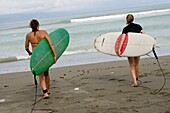
[[[30,27],[32,31],[26,35],[25,50],[28,52],[29,55],[32,55],[32,52],[29,50],[29,43],[31,43],[32,51],[33,51],[34,48],[38,45],[38,43],[43,38],[46,38],[54,54],[54,63],[55,63],[57,60],[57,55],[56,55],[54,45],[48,33],[45,30],[39,30],[39,22],[36,19],[31,20]],[[40,81],[40,85],[44,93],[44,99],[49,98],[50,76],[49,76],[48,70],[39,75],[39,81]]]

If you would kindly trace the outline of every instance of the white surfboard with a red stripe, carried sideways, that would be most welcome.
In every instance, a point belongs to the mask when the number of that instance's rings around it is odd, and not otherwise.
[[[98,36],[94,41],[94,47],[99,52],[113,56],[143,56],[150,53],[156,45],[156,40],[141,33],[126,34],[125,41],[121,47],[121,54],[118,55],[118,48],[122,38],[121,32],[109,32]]]

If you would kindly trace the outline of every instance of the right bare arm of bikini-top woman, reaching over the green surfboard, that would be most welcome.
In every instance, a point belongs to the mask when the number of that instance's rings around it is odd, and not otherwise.
[[[45,38],[47,39],[47,41],[48,41],[48,43],[49,43],[49,45],[50,45],[50,47],[51,47],[51,49],[53,51],[53,54],[54,54],[54,63],[56,63],[56,61],[57,61],[57,53],[56,53],[55,47],[54,47],[54,45],[53,45],[53,43],[52,43],[48,33],[46,31],[45,31]]]

